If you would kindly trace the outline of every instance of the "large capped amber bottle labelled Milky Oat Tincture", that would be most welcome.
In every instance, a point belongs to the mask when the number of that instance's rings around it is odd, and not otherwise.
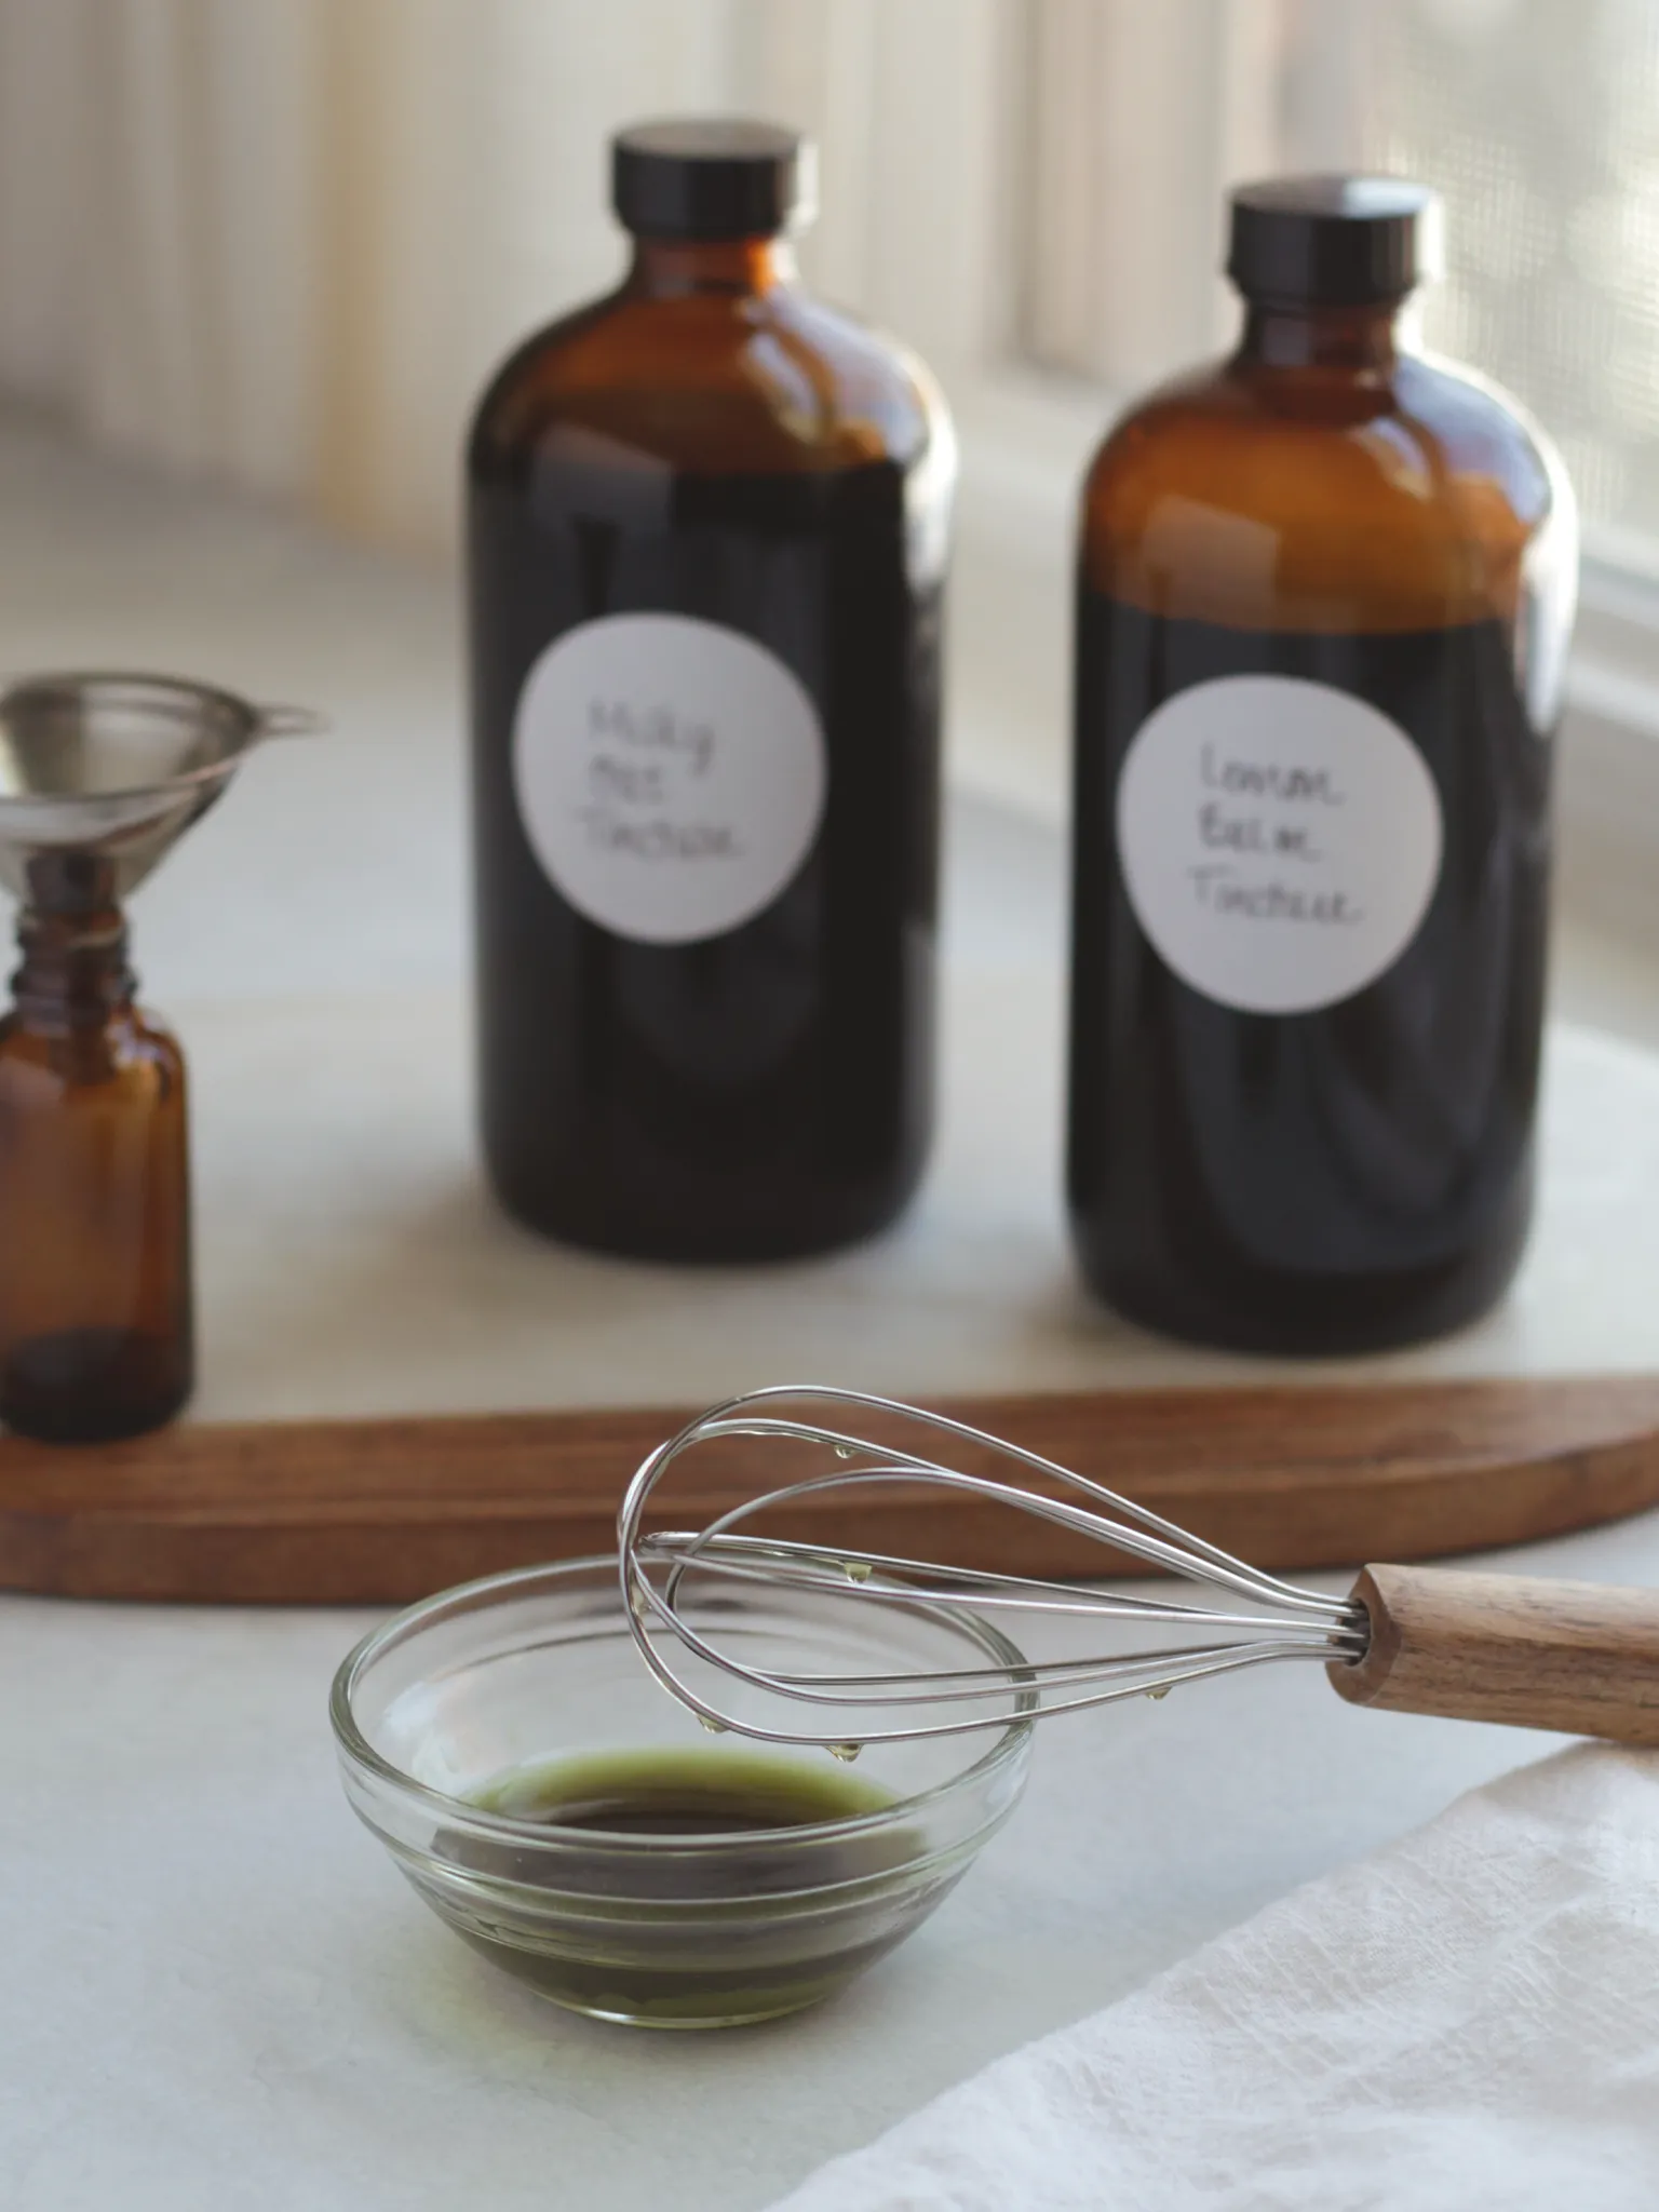
[[[876,1230],[929,1137],[953,438],[814,301],[807,148],[613,148],[617,292],[469,451],[482,1130],[555,1237],[763,1259]]]

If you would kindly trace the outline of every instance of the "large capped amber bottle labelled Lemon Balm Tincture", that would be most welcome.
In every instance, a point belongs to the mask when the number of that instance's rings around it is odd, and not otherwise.
[[[1577,544],[1540,431],[1409,343],[1436,217],[1237,192],[1237,352],[1084,489],[1073,1230],[1208,1343],[1449,1329],[1526,1234]]]

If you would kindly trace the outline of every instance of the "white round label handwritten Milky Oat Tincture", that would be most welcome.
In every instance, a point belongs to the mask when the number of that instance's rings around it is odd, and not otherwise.
[[[783,661],[714,622],[606,615],[531,668],[513,787],[577,914],[690,945],[770,907],[830,783],[818,712]]]

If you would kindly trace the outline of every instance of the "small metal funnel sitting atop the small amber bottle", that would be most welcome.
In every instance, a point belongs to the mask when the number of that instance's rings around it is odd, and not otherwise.
[[[35,907],[119,902],[252,745],[319,728],[303,708],[173,677],[13,684],[0,692],[0,885]]]

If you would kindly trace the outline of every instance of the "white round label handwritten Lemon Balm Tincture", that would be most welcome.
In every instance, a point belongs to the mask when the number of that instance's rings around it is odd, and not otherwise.
[[[1301,677],[1219,677],[1150,714],[1117,783],[1135,916],[1181,982],[1307,1013],[1394,967],[1440,880],[1429,763],[1398,723]]]

